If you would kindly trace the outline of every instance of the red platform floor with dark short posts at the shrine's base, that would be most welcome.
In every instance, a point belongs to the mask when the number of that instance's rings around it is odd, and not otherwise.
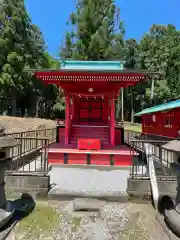
[[[65,147],[55,143],[49,146],[48,162],[50,164],[130,166],[134,155],[137,153],[132,154],[126,145],[113,149],[79,150],[74,146]]]

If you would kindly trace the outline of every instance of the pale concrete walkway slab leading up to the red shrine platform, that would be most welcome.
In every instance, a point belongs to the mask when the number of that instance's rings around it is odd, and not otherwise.
[[[50,183],[53,186],[50,196],[79,196],[128,198],[127,178],[129,169],[90,169],[70,168],[53,165]]]

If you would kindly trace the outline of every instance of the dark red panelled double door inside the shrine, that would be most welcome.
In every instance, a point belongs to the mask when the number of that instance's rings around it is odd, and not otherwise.
[[[79,120],[84,122],[102,121],[102,99],[80,99]]]

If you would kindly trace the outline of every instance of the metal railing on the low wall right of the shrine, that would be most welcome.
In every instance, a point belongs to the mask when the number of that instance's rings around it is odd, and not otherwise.
[[[155,161],[157,178],[176,178],[172,165],[176,160],[176,154],[164,149],[162,146],[168,143],[170,138],[144,134],[125,130],[125,143],[129,145],[133,163],[130,167],[131,178],[149,179],[148,164],[145,147],[152,154]]]

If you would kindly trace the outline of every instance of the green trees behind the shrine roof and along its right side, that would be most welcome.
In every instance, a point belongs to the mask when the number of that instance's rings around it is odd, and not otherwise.
[[[153,25],[138,44],[124,40],[120,10],[114,1],[78,1],[70,16],[72,29],[66,34],[60,56],[76,60],[124,60],[126,68],[160,71],[155,81],[154,103],[180,97],[180,31],[173,25]],[[124,91],[125,118],[152,104],[151,82],[140,83]],[[120,98],[119,101],[120,102]],[[117,119],[120,105],[117,104]]]

